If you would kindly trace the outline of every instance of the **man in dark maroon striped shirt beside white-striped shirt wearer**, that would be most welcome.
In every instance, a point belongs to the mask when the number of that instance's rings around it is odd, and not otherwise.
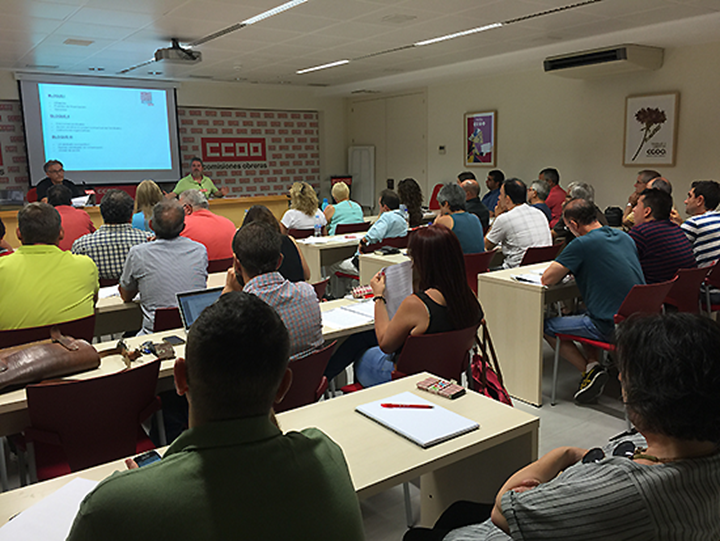
[[[648,284],[672,280],[678,270],[697,267],[690,241],[670,220],[671,210],[672,197],[655,188],[640,194],[633,211],[635,225],[629,233]]]

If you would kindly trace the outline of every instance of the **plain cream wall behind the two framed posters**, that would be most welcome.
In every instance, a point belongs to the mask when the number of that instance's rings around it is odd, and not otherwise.
[[[536,71],[431,85],[428,93],[428,184],[448,182],[463,167],[463,115],[498,111],[498,168],[523,180],[557,167],[561,185],[595,186],[601,208],[624,206],[641,167],[622,165],[625,98],[680,92],[675,167],[657,167],[676,205],[692,180],[720,180],[720,43],[665,51],[659,71],[577,81]],[[447,153],[438,153],[445,145]],[[488,168],[473,168],[484,179]]]

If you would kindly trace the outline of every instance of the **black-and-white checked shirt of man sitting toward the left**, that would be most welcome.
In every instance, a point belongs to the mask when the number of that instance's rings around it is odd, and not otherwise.
[[[147,242],[147,233],[130,224],[105,224],[73,242],[72,253],[89,256],[100,278],[119,280],[130,248]]]

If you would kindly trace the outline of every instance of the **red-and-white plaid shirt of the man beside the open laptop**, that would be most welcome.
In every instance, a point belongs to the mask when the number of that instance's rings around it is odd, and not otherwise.
[[[322,346],[322,317],[315,289],[307,282],[288,282],[279,272],[261,274],[245,284],[277,311],[290,334],[290,360],[300,359]]]

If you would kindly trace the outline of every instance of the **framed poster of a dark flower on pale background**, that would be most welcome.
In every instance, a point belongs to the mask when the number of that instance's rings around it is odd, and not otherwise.
[[[623,165],[675,165],[679,92],[625,99]]]

